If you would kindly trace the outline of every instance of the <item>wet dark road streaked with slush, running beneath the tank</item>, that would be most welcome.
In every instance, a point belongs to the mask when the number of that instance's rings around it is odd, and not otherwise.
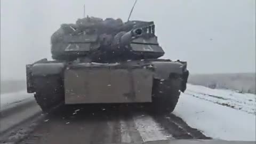
[[[1,111],[1,144],[255,143],[212,140],[180,117],[142,105],[60,106],[42,114],[35,102],[28,104]]]

